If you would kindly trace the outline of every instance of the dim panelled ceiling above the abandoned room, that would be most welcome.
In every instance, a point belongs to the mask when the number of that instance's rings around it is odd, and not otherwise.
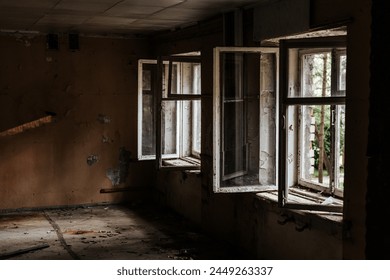
[[[0,0],[0,32],[148,34],[267,0]]]

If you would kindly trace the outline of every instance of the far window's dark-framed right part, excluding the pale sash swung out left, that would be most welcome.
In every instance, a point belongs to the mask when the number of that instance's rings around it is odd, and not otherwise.
[[[200,56],[158,61],[157,162],[160,169],[200,169]]]

